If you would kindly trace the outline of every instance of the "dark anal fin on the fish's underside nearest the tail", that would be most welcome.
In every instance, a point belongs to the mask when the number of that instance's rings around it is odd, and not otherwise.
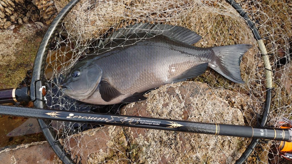
[[[173,77],[171,79],[168,79],[166,81],[166,83],[184,81],[186,79],[199,76],[199,75],[203,74],[206,71],[207,67],[208,67],[208,63],[202,63],[202,64],[199,64],[199,65],[196,65],[194,67],[191,67],[191,68],[187,69],[182,74],[180,74],[178,76],[175,76],[175,77]]]

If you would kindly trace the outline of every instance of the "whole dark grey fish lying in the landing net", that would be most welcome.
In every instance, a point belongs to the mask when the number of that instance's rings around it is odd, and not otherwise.
[[[207,67],[244,83],[240,63],[252,45],[192,46],[201,38],[190,29],[168,24],[138,23],[119,29],[100,41],[99,53],[70,69],[61,92],[90,104],[138,102],[147,99],[147,91],[199,76]]]

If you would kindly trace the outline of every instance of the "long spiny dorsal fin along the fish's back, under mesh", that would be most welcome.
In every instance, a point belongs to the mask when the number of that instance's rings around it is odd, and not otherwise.
[[[129,38],[134,40],[135,43],[137,40],[150,38],[158,34],[162,34],[171,39],[175,39],[189,45],[197,43],[202,38],[197,33],[185,27],[164,24],[138,23],[121,28],[114,32],[104,41],[100,41],[99,47],[105,47],[105,45],[111,44],[111,42],[121,44],[121,40],[125,42]]]

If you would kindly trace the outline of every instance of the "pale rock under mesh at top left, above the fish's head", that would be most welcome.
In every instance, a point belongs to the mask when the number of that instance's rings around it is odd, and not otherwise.
[[[58,0],[54,1],[57,11],[60,12],[62,8],[67,5],[67,0]],[[107,32],[109,28],[113,25],[121,22],[123,14],[125,14],[125,6],[122,0],[114,1],[99,1],[91,5],[90,1],[81,0],[79,2],[81,8],[78,8],[74,12],[68,13],[68,16],[65,18],[65,21],[79,22],[81,28],[76,28],[75,25],[71,23],[66,24],[67,29],[72,29],[72,36],[81,36],[86,41],[88,38],[99,37],[100,35]],[[93,10],[89,10],[88,6],[92,6]],[[78,16],[76,15],[78,13]],[[93,26],[90,25],[90,22],[95,22]]]

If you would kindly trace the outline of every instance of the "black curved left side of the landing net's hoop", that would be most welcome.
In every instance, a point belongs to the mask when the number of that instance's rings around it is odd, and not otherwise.
[[[34,102],[34,106],[37,108],[46,108],[46,104],[44,103],[44,97],[39,92],[39,89],[44,86],[44,68],[46,65],[46,58],[48,55],[48,50],[50,46],[50,42],[53,39],[53,34],[55,34],[56,29],[60,27],[63,19],[69,13],[69,11],[77,4],[79,0],[71,0],[57,15],[57,17],[53,20],[50,27],[48,28],[46,34],[44,35],[41,44],[39,45],[39,49],[36,53],[36,57],[34,60],[34,66],[32,71],[32,83],[30,86],[31,95],[30,98],[32,102]],[[46,140],[52,147],[55,154],[62,160],[64,164],[75,164],[74,160],[72,160],[69,152],[64,150],[64,147],[61,143],[56,139],[56,133],[49,125],[51,123],[50,120],[42,120],[38,119],[39,126],[42,129]],[[76,160],[77,161],[77,160]]]

